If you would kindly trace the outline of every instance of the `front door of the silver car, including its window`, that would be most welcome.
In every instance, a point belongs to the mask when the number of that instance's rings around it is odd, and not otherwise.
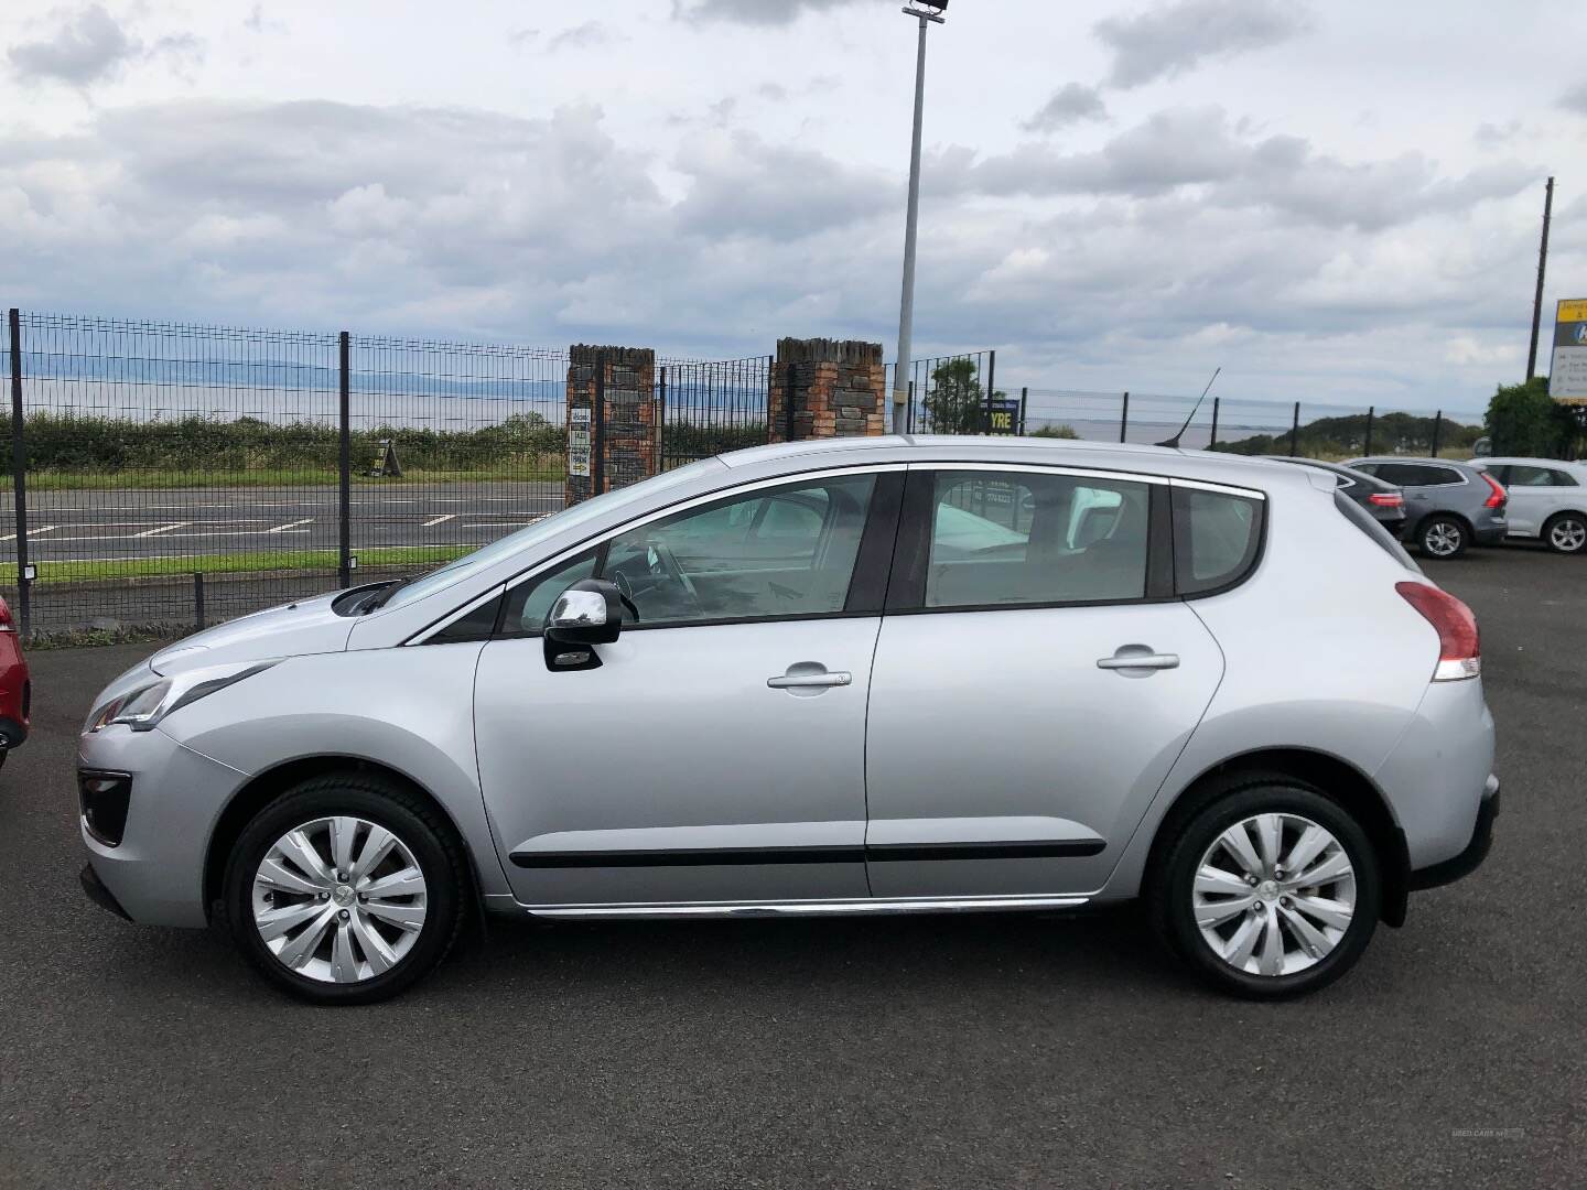
[[[508,631],[479,658],[475,724],[519,901],[868,895],[881,584],[855,576],[870,566],[862,552],[886,563],[900,481],[847,471],[740,492],[509,589]],[[551,673],[540,625],[592,574],[616,581],[638,620],[598,646],[600,668]]]

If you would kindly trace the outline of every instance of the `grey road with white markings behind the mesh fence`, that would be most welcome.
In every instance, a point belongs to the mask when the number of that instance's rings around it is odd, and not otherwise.
[[[14,505],[0,503],[0,563],[16,557]],[[562,482],[355,484],[355,549],[482,546],[562,508]],[[335,487],[29,492],[35,562],[335,549]]]

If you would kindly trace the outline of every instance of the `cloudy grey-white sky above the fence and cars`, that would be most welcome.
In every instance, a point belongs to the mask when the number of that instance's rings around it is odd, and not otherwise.
[[[0,305],[890,360],[914,36],[898,0],[10,0]],[[1550,173],[1544,344],[1587,297],[1571,44],[1557,0],[952,0],[913,354],[1481,409]]]

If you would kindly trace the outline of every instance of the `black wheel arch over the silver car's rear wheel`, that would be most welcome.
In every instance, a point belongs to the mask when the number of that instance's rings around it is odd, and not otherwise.
[[[1163,854],[1190,816],[1251,777],[1271,774],[1305,781],[1338,801],[1366,831],[1382,873],[1387,925],[1403,925],[1409,895],[1411,857],[1404,833],[1376,782],[1351,762],[1312,747],[1258,747],[1209,765],[1185,784],[1152,835],[1146,871],[1160,869]]]

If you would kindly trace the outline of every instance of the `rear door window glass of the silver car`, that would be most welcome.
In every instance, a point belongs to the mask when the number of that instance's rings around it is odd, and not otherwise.
[[[1146,597],[1151,487],[1128,479],[938,471],[927,608]]]

